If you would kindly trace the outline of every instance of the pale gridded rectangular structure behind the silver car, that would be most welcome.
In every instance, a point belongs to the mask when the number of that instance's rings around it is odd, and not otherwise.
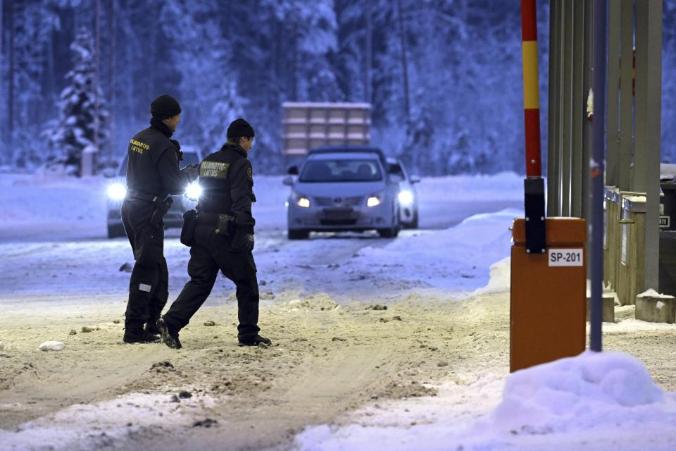
[[[304,156],[313,147],[370,142],[370,104],[284,102],[282,109],[284,155]]]

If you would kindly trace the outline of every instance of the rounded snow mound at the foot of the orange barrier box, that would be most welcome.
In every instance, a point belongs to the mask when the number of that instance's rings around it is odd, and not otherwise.
[[[653,383],[639,359],[588,351],[513,373],[503,401],[479,427],[561,433],[651,422],[676,426],[676,399]]]

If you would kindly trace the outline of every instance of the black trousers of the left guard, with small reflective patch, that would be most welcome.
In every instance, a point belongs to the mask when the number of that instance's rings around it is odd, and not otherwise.
[[[159,319],[169,297],[169,271],[164,258],[164,223],[150,223],[156,206],[139,199],[125,199],[122,223],[134,251],[129,282],[125,326],[139,328]]]

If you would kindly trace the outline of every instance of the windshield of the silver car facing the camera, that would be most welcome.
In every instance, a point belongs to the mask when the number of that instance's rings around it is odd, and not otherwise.
[[[305,183],[377,182],[382,180],[376,160],[311,160],[300,178]]]

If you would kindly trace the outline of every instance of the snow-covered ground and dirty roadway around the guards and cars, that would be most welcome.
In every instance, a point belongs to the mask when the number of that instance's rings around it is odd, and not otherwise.
[[[104,238],[106,183],[0,176],[0,450],[675,449],[676,326],[621,307],[604,326],[618,352],[508,375],[517,175],[423,180],[422,229],[396,240],[301,242],[284,237],[280,178],[256,179],[276,346],[251,352],[231,343],[225,279],[180,352],[121,344],[131,252]],[[171,301],[189,254],[169,235]]]

